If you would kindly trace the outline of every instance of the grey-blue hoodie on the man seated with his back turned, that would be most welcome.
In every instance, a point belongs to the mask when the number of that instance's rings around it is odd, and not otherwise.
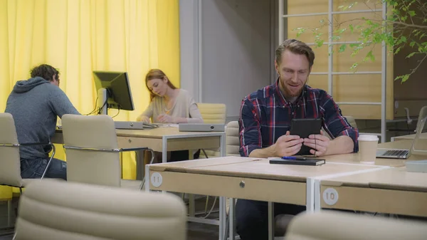
[[[20,80],[6,103],[5,113],[14,116],[19,143],[50,142],[56,120],[64,114],[78,114],[67,95],[58,86],[41,77]],[[49,146],[20,147],[21,158],[48,157]]]

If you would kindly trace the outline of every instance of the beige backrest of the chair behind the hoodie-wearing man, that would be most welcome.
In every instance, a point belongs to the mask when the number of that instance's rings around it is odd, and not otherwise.
[[[19,142],[15,121],[10,113],[0,113],[0,132],[0,184],[21,187]],[[15,147],[10,147],[10,145],[15,145]]]

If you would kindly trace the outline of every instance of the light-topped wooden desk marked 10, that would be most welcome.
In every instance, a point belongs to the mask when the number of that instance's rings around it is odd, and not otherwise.
[[[320,196],[322,208],[427,216],[427,173],[399,167],[324,179]]]

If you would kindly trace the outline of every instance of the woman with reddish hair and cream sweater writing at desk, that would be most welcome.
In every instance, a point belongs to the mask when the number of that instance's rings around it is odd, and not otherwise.
[[[145,84],[150,93],[149,106],[144,113],[139,115],[137,121],[156,123],[201,123],[203,119],[196,102],[184,89],[176,88],[167,78],[167,75],[159,69],[150,70],[145,76]],[[149,152],[147,152],[148,154]],[[149,160],[147,154],[144,160]],[[161,155],[157,155],[158,162]],[[194,154],[194,159],[199,158],[199,151]],[[189,159],[189,151],[174,151],[168,160],[181,161]],[[145,164],[148,162],[145,161]]]

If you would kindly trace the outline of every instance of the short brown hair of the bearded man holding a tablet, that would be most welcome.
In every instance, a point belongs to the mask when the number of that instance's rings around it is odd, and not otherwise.
[[[282,61],[282,53],[285,50],[289,50],[295,54],[304,54],[307,57],[310,68],[315,63],[315,52],[308,46],[306,43],[302,41],[298,41],[297,39],[286,39],[282,44],[278,46],[275,51],[276,59],[275,61],[280,64]]]

